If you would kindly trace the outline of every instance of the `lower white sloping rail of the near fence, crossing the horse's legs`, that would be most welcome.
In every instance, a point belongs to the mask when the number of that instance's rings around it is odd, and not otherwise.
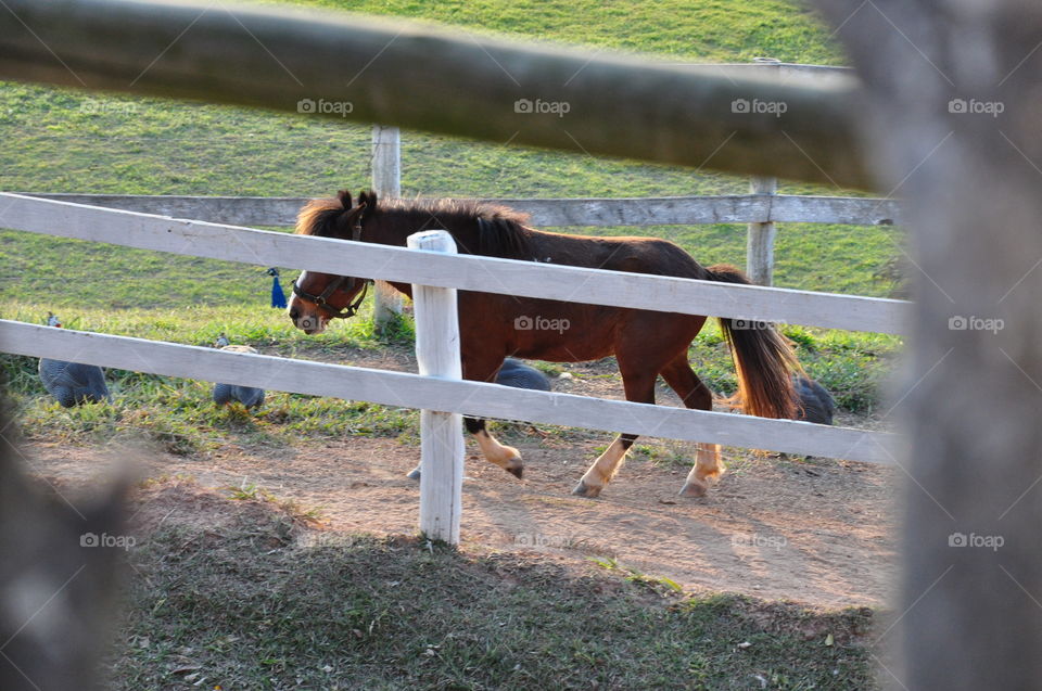
[[[893,463],[895,435],[528,391],[0,320],[0,349],[166,376],[465,415]]]

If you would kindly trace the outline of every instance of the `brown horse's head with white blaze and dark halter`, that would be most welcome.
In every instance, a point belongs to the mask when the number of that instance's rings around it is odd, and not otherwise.
[[[363,192],[357,206],[351,203],[351,192],[344,190],[335,197],[308,202],[296,220],[296,232],[302,235],[361,240],[361,222],[367,209],[376,208],[376,194]],[[331,319],[353,317],[366,296],[369,281],[331,273],[303,271],[293,283],[293,298],[289,313],[293,324],[310,335],[326,330]]]

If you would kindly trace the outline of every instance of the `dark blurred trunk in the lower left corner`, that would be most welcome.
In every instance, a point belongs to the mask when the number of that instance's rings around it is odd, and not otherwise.
[[[125,559],[125,550],[100,542],[126,537],[128,482],[93,499],[71,501],[60,488],[46,496],[21,468],[5,419],[0,414],[0,689],[99,688]]]

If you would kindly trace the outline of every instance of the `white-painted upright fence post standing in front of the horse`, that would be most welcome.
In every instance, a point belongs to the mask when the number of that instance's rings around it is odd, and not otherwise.
[[[444,230],[409,235],[411,249],[456,254]],[[456,289],[412,285],[416,359],[420,374],[462,379]],[[458,413],[420,413],[420,530],[430,538],[459,543],[463,485],[462,419]]]

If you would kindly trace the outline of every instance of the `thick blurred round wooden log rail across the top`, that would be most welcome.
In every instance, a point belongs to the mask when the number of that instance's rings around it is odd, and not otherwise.
[[[876,183],[855,133],[860,85],[843,75],[782,82],[342,12],[129,0],[7,0],[3,8],[0,78],[859,189]],[[157,55],[163,46],[175,50]],[[330,69],[344,78],[331,79]],[[567,103],[567,116],[535,106],[541,101]],[[786,108],[776,117],[736,108],[739,101]]]

